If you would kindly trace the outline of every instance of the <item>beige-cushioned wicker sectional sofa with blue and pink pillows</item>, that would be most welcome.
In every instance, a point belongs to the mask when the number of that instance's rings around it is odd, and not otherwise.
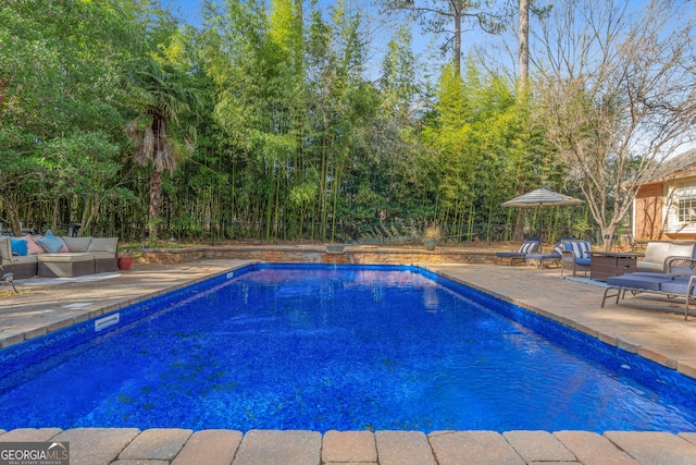
[[[26,252],[23,249],[26,242]],[[117,237],[0,236],[0,265],[14,279],[72,278],[116,271]]]

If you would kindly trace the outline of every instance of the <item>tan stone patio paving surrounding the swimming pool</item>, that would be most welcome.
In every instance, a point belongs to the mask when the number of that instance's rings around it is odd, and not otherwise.
[[[21,294],[0,298],[0,347],[246,264],[139,265],[99,281],[17,281]],[[696,377],[696,316],[684,321],[681,302],[637,296],[602,309],[601,286],[560,279],[558,269],[424,267]],[[0,429],[0,442],[14,441],[69,441],[71,465],[696,464],[696,433],[657,431]]]

